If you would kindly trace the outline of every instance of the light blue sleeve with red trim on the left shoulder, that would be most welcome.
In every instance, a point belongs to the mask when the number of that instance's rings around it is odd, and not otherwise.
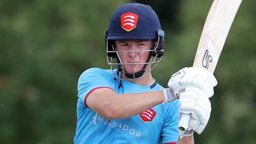
[[[114,90],[114,87],[111,86],[110,76],[105,70],[100,68],[90,68],[85,70],[78,79],[78,100],[83,102],[86,106],[86,97],[88,97],[93,90],[103,87]]]

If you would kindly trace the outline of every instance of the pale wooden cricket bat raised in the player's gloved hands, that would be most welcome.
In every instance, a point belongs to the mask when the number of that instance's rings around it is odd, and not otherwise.
[[[213,1],[199,40],[193,67],[214,72],[241,2],[242,0]],[[189,119],[190,114],[181,116],[178,125],[181,134],[186,131]]]

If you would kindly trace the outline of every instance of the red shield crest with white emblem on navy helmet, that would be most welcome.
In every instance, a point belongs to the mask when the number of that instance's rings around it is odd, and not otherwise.
[[[121,15],[121,27],[126,31],[131,31],[137,26],[139,15],[128,12]]]

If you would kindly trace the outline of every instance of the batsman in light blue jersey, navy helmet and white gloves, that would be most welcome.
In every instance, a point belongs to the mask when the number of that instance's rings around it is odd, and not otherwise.
[[[150,6],[115,10],[105,32],[110,69],[90,68],[78,79],[74,143],[194,143],[209,121],[217,80],[189,67],[167,76],[168,87],[159,85],[151,70],[164,55],[164,36]],[[182,114],[191,118],[179,133]]]

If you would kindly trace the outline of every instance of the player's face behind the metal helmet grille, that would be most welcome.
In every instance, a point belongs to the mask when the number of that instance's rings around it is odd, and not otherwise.
[[[116,41],[116,50],[122,63],[133,63],[134,65],[123,65],[124,70],[128,74],[137,73],[140,71],[149,57],[153,41]],[[143,51],[143,52],[141,52]],[[150,65],[148,65],[150,67]]]

